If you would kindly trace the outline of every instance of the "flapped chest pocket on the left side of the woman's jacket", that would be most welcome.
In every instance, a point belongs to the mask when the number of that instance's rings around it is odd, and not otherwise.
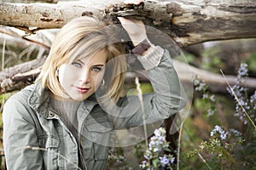
[[[54,170],[58,169],[59,164],[59,144],[60,140],[53,136],[38,137],[39,146],[44,148],[43,159],[44,169]]]

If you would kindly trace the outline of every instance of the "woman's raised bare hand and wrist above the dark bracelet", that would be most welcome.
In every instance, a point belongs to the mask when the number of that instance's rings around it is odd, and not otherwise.
[[[118,19],[131,38],[131,42],[134,46],[136,46],[139,42],[143,42],[143,40],[147,37],[146,28],[142,20],[128,20],[124,17],[118,17]]]

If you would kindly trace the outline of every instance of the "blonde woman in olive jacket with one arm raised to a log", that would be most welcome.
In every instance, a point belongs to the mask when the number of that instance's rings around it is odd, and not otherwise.
[[[55,37],[37,82],[4,105],[9,169],[105,169],[113,130],[165,119],[183,108],[169,53],[149,42],[141,21],[119,21],[154,88],[143,95],[143,109],[137,96],[121,96],[126,64],[116,27],[93,17],[75,19]]]

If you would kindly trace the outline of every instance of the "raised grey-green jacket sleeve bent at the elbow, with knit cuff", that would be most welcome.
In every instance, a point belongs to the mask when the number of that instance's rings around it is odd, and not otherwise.
[[[144,94],[143,104],[138,96],[126,96],[111,116],[116,129],[135,127],[146,123],[166,119],[183,109],[186,95],[172,65],[169,52],[156,46],[149,54],[138,57],[147,71],[147,77],[154,88],[154,94]],[[143,105],[143,107],[142,107]]]

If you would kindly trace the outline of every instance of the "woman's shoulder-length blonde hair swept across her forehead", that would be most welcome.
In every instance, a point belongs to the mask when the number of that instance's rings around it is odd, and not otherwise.
[[[121,42],[117,41],[116,32],[113,32],[113,29],[114,26],[108,27],[101,20],[88,16],[79,17],[67,23],[55,37],[37,81],[42,83],[43,88],[49,88],[53,94],[68,98],[56,77],[57,68],[104,49],[108,55],[107,62],[110,59],[114,60],[111,66],[106,68],[103,77],[105,81],[106,78],[112,80],[104,96],[117,102],[122,91],[126,63],[125,58],[122,57],[125,50]]]

